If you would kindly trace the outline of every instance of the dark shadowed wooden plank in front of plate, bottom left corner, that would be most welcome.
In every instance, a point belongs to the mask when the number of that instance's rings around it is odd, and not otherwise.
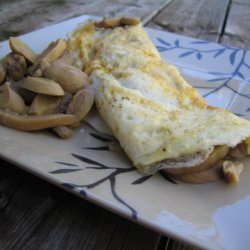
[[[0,249],[157,249],[157,233],[4,161],[0,177]]]

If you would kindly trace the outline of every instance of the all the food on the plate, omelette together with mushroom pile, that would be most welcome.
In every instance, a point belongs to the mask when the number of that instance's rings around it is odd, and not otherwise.
[[[145,175],[237,183],[250,122],[206,103],[164,62],[138,17],[88,20],[36,54],[18,38],[0,60],[0,124],[61,138],[99,114]],[[108,128],[105,129],[108,131]]]

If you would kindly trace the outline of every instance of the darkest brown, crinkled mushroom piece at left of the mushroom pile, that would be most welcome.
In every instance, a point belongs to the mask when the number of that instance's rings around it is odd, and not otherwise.
[[[4,59],[4,63],[10,78],[19,81],[24,77],[27,65],[23,56],[10,53]]]

